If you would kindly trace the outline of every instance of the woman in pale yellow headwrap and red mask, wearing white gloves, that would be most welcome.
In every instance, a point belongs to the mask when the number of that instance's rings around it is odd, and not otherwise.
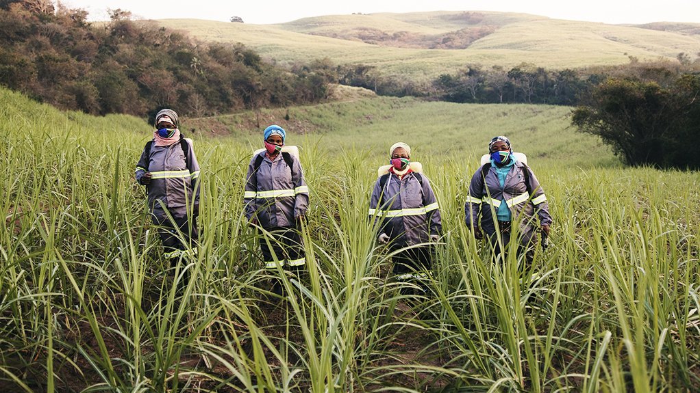
[[[391,166],[374,184],[370,219],[379,225],[379,243],[397,251],[392,262],[398,281],[424,288],[421,279],[433,265],[430,242],[437,242],[442,232],[440,209],[428,177],[416,170],[419,163],[412,168],[411,147],[397,142],[388,153]]]

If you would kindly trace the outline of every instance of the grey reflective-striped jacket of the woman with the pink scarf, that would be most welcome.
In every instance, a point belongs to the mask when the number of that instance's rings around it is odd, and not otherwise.
[[[145,148],[141,153],[136,167],[136,181],[139,183],[144,173],[151,172],[151,183],[146,185],[146,192],[148,209],[152,213],[162,211],[158,201],[162,201],[174,216],[185,216],[188,204],[194,205],[195,214],[197,213],[200,205],[200,187],[197,181],[200,177],[200,164],[197,163],[195,150],[189,140],[187,147],[187,164],[180,142],[169,146],[156,146],[154,142],[148,157]]]

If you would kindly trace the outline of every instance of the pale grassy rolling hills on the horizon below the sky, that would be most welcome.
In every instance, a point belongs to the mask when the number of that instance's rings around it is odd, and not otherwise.
[[[254,25],[205,20],[158,20],[171,29],[218,42],[244,43],[281,64],[328,57],[426,80],[467,64],[545,68],[624,64],[696,54],[700,24],[642,27],[555,20],[519,13],[377,13],[309,17]]]

